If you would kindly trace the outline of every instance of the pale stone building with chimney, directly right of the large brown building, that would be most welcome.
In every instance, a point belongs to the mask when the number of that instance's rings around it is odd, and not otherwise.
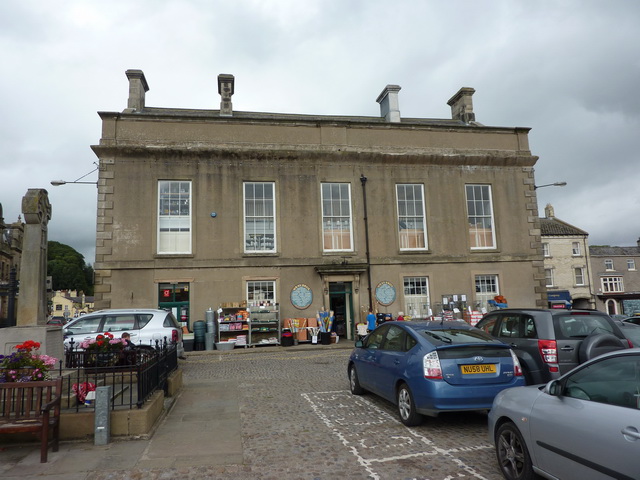
[[[540,218],[545,284],[550,308],[595,308],[589,234],[556,218],[551,205]]]

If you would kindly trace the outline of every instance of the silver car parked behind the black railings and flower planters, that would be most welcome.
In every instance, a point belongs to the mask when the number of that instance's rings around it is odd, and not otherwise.
[[[64,344],[69,347],[73,341],[77,348],[81,342],[104,332],[117,337],[127,332],[134,345],[143,347],[155,346],[156,341],[166,339],[177,345],[179,357],[184,356],[182,329],[176,318],[171,312],[151,308],[98,310],[78,317],[64,326]]]

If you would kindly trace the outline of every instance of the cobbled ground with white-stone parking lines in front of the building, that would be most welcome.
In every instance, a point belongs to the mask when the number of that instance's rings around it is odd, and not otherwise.
[[[349,353],[260,350],[189,356],[181,362],[185,384],[238,382],[243,464],[96,472],[93,478],[502,478],[486,440],[486,415],[449,414],[407,428],[392,404],[373,395],[350,394]]]

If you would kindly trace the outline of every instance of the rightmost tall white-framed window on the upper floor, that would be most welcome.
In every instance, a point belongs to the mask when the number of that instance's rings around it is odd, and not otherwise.
[[[472,250],[496,247],[491,186],[466,185],[467,221]]]

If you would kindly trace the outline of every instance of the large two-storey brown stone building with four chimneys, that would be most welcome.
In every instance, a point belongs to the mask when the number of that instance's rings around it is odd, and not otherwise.
[[[227,302],[281,317],[335,311],[342,332],[371,305],[546,306],[528,128],[477,123],[471,88],[452,118],[149,107],[128,70],[122,112],[100,112],[96,308],[171,307],[191,324]],[[372,99],[373,100],[373,99]]]

